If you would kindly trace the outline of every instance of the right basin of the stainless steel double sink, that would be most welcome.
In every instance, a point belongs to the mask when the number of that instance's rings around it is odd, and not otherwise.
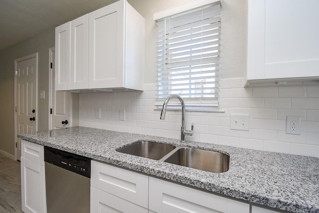
[[[181,147],[163,160],[207,172],[227,172],[229,156],[220,152]]]

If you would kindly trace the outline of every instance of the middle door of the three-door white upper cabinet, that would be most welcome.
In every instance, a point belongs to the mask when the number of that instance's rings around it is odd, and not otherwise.
[[[88,88],[89,14],[71,21],[70,89]]]

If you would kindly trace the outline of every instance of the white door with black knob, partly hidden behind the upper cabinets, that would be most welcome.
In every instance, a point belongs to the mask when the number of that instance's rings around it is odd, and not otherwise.
[[[70,126],[70,92],[55,91],[55,51],[50,49],[51,68],[51,126],[49,129],[66,128]],[[53,81],[53,82],[52,82]]]

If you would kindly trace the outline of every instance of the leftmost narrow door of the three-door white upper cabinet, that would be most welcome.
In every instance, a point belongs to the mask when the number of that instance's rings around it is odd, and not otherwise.
[[[55,28],[55,90],[70,89],[70,22]]]

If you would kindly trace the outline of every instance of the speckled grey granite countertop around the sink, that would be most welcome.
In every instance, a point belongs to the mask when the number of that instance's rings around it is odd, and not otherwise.
[[[296,213],[319,213],[319,158],[200,142],[71,127],[18,135],[21,139],[210,192]],[[117,152],[151,140],[230,155],[229,170],[211,173]]]

